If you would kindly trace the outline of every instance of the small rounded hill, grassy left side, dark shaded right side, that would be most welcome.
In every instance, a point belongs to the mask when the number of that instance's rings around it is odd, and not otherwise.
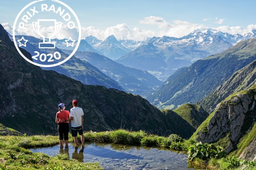
[[[209,113],[207,111],[204,111],[204,109],[201,106],[189,103],[180,106],[174,111],[184,120],[189,122],[189,124],[193,126],[195,130],[209,116]]]

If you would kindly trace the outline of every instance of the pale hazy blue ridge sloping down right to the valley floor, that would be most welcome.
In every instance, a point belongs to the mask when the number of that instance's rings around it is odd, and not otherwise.
[[[70,54],[72,51],[63,52]],[[163,83],[147,71],[126,67],[94,52],[76,51],[75,56],[91,63],[132,94],[144,96],[146,92],[157,89]]]

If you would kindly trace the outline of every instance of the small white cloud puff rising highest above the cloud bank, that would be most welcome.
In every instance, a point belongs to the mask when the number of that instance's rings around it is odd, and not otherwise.
[[[139,21],[141,24],[150,24],[150,25],[157,25],[158,28],[170,28],[171,24],[167,23],[166,20],[163,19],[163,17],[144,17],[144,20]]]

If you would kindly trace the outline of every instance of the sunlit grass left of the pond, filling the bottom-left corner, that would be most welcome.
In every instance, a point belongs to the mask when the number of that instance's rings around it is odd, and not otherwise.
[[[29,150],[58,143],[58,136],[0,136],[0,170],[103,170],[99,163],[80,163],[66,155],[51,157]]]

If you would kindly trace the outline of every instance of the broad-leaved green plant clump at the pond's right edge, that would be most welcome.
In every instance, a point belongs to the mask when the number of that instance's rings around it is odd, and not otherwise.
[[[208,160],[210,158],[220,159],[227,156],[227,152],[222,147],[215,147],[213,144],[197,143],[195,146],[188,147],[188,159],[193,161],[195,158]]]

